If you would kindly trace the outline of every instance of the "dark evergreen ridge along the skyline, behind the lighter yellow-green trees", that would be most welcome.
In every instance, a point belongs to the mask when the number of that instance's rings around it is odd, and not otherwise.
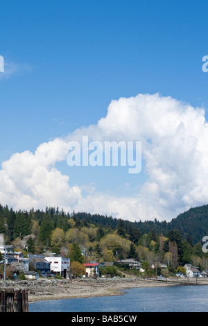
[[[118,230],[121,220],[112,218],[112,216],[103,216],[99,214],[89,214],[86,212],[63,212],[58,207],[46,207],[45,211],[31,209],[30,212],[15,212],[8,206],[3,207],[0,204],[0,233],[8,234],[8,239],[12,241],[16,237],[24,237],[31,234],[31,221],[36,221],[41,225],[42,221],[51,222],[51,230],[62,228],[66,232],[69,226],[69,219],[73,218],[76,228],[89,225],[102,226],[107,232]],[[170,230],[177,229],[184,238],[191,237],[193,243],[202,241],[202,238],[208,235],[208,205],[189,209],[173,218],[172,221],[135,221],[122,220],[122,228],[132,239],[137,239],[139,234],[163,234],[166,236]],[[119,232],[122,233],[122,230]],[[133,241],[133,240],[132,240]],[[135,241],[133,241],[135,242]]]

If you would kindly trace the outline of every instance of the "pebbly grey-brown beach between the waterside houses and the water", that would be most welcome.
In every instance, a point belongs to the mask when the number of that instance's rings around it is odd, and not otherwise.
[[[28,303],[42,300],[92,298],[123,295],[125,290],[139,287],[161,287],[182,285],[208,285],[207,280],[172,279],[168,282],[157,279],[130,277],[125,279],[75,279],[75,280],[27,280],[6,281],[6,288],[19,288],[28,291]],[[0,283],[3,289],[3,283]]]

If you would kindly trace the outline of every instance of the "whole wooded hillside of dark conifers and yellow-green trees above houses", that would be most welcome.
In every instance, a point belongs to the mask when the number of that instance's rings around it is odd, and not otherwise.
[[[70,257],[77,243],[88,260],[135,259],[171,268],[190,263],[208,269],[202,238],[208,235],[208,205],[189,209],[171,221],[135,221],[86,212],[64,212],[59,207],[15,211],[0,205],[0,233],[6,244],[19,245],[30,236],[28,252],[65,250]],[[31,237],[33,235],[33,239]]]

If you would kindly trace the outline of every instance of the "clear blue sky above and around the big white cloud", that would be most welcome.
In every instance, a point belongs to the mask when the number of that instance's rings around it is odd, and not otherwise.
[[[207,118],[207,1],[1,0],[0,12],[0,163],[97,125],[119,98],[158,93],[204,108]],[[148,178],[145,169],[128,175],[119,167],[69,169],[66,160],[54,166],[71,186],[96,185],[114,196],[140,196]],[[169,216],[188,207],[180,203]]]

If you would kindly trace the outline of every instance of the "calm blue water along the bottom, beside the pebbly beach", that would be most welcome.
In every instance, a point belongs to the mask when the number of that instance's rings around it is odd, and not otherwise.
[[[208,312],[208,286],[128,289],[123,295],[47,300],[29,304],[30,312]]]

